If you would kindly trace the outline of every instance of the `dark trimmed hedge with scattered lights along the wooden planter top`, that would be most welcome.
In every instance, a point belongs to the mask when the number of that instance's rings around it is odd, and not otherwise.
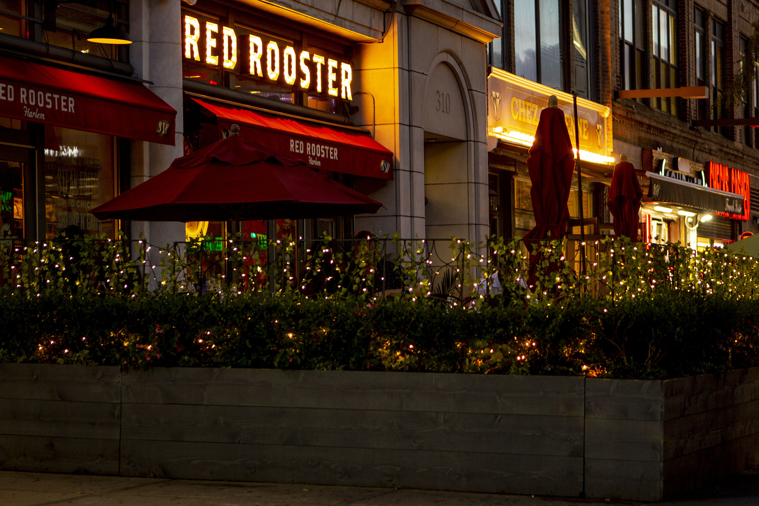
[[[0,362],[657,379],[759,365],[759,301],[0,297]]]

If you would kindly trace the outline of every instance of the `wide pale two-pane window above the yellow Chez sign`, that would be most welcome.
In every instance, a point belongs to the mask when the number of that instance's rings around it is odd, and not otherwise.
[[[518,76],[563,90],[559,0],[515,0],[514,50]]]

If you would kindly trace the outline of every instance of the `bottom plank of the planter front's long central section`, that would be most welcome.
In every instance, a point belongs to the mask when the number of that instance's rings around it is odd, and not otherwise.
[[[121,474],[541,495],[582,490],[582,458],[124,440]]]

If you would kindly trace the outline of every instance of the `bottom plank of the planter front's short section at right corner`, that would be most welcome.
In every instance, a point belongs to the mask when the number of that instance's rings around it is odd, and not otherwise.
[[[585,496],[622,501],[661,501],[662,463],[650,460],[585,460]]]

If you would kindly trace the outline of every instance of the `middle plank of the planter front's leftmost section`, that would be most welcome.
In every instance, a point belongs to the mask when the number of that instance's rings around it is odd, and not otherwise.
[[[121,404],[0,399],[0,434],[118,439]]]

